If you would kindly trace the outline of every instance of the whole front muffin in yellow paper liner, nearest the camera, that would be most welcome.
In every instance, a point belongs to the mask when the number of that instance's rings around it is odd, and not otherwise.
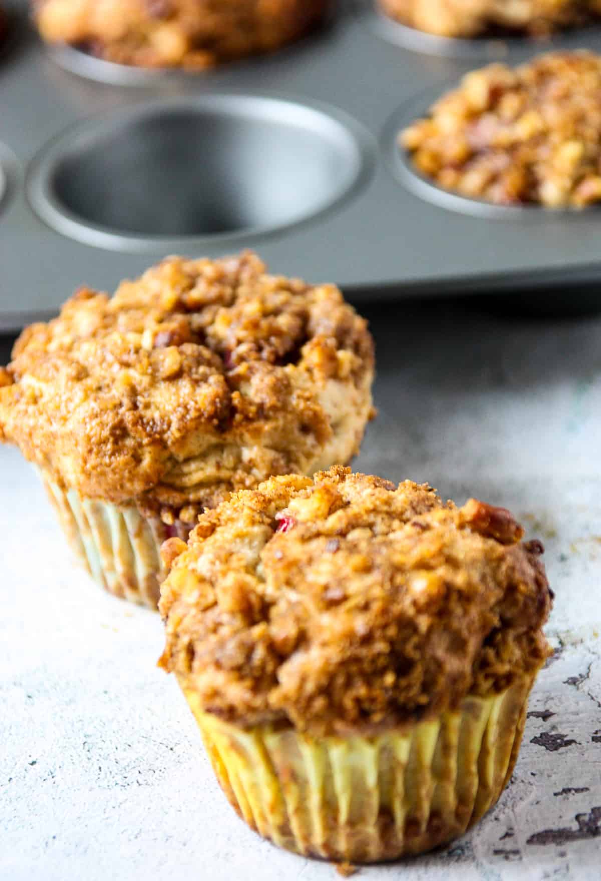
[[[163,547],[175,673],[227,798],[284,848],[373,862],[498,799],[549,649],[542,545],[504,508],[342,466]]]

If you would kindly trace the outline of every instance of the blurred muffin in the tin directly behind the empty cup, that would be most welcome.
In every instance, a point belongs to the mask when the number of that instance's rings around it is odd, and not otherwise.
[[[328,0],[37,0],[44,40],[108,61],[202,70],[272,52],[323,19]]]

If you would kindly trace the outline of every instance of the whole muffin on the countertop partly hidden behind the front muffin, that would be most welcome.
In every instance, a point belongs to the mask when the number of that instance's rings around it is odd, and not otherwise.
[[[350,460],[372,415],[367,323],[256,255],[170,257],[78,291],[0,368],[0,440],[35,463],[78,556],[156,607],[160,544],[274,474]]]

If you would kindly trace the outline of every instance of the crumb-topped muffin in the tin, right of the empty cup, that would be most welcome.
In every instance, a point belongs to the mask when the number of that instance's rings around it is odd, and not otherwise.
[[[496,204],[576,207],[601,200],[601,57],[491,64],[400,136],[417,170],[443,189]]]

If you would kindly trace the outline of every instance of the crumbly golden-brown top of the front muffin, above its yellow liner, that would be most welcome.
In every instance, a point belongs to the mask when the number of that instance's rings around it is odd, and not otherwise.
[[[501,692],[548,653],[552,594],[507,510],[352,474],[271,478],[163,545],[160,664],[205,712],[371,732]]]

